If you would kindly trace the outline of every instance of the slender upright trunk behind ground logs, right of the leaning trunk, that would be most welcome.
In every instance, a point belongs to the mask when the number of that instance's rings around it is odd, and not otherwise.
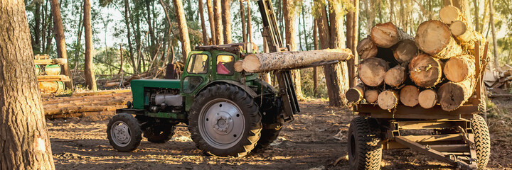
[[[90,0],[84,0],[84,28],[85,28],[85,85],[87,89],[97,91],[94,65],[92,65],[92,28],[90,21]]]

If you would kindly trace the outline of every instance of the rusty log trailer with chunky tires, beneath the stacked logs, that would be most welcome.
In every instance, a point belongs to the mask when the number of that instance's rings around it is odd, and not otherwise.
[[[479,112],[485,112],[481,68],[485,68],[488,46],[486,43],[480,55],[480,45],[476,43],[476,90],[455,111],[444,111],[439,105],[429,109],[398,105],[391,110],[367,103],[355,105],[354,113],[359,116],[348,130],[351,169],[380,169],[383,149],[407,148],[459,169],[485,169],[491,142],[489,128]]]

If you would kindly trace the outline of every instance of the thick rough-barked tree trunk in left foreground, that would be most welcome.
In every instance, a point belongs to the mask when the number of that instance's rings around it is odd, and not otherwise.
[[[0,169],[55,169],[23,1],[0,1]]]

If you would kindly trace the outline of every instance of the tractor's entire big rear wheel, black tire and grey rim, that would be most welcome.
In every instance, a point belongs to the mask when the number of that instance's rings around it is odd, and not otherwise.
[[[228,84],[210,86],[196,96],[188,130],[198,149],[220,157],[243,157],[255,148],[262,130],[255,101]]]

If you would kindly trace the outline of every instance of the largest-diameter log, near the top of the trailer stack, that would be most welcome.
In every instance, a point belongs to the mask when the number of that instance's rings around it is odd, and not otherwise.
[[[452,38],[449,27],[441,21],[425,21],[418,26],[416,45],[420,50],[439,59],[462,55],[462,47]]]

